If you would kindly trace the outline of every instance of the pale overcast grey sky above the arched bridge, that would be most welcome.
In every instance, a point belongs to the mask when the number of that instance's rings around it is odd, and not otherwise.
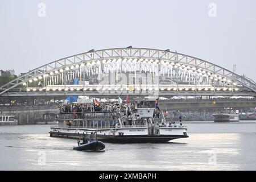
[[[217,16],[209,16],[210,3]],[[16,74],[90,49],[133,46],[177,50],[231,71],[236,64],[256,81],[255,0],[2,0],[0,23],[0,69]]]

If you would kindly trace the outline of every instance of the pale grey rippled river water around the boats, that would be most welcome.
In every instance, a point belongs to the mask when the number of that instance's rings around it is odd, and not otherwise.
[[[73,151],[77,140],[49,137],[49,125],[1,126],[0,170],[256,169],[256,122],[184,125],[189,138],[105,143],[105,152]]]

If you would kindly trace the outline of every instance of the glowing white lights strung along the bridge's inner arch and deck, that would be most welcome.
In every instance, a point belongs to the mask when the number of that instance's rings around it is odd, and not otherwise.
[[[35,77],[35,78],[30,78],[28,82],[33,82],[33,81],[39,81],[44,79],[44,83],[46,82],[46,85],[53,86],[55,84],[63,84],[64,80],[69,81],[74,78],[82,78],[82,74],[86,73],[86,76],[90,75],[98,75],[100,76],[103,73],[113,73],[116,72],[118,75],[118,72],[144,72],[144,73],[152,73],[153,75],[159,75],[159,76],[165,76],[168,75],[168,77],[174,77],[179,76],[181,77],[181,80],[186,80],[189,81],[190,83],[194,83],[195,85],[199,85],[199,88],[157,88],[155,90],[239,90],[238,88],[233,88],[233,86],[237,86],[236,82],[233,82],[230,80],[230,78],[226,78],[224,76],[218,75],[216,73],[209,72],[203,68],[196,68],[191,65],[185,65],[179,62],[175,61],[170,61],[170,60],[161,60],[159,61],[158,59],[132,59],[132,58],[124,58],[124,59],[103,59],[102,61],[100,60],[93,60],[93,61],[88,61],[87,63],[81,63],[81,64],[73,64],[69,65],[67,67],[59,68],[56,70],[53,70],[49,73],[42,73],[42,75]],[[206,85],[209,82],[212,83],[212,81],[221,81],[224,83],[224,88],[200,88],[200,85]],[[27,82],[23,82],[23,85],[27,85]],[[226,85],[232,86],[232,88],[226,88]],[[74,85],[73,85],[74,86]],[[90,85],[92,86],[92,85]],[[114,85],[113,85],[114,86]],[[28,91],[35,90],[34,89],[29,89],[27,88]],[[55,89],[55,90],[54,90]],[[84,89],[84,91],[88,90],[86,88],[69,88],[68,90],[81,90]],[[93,90],[102,90],[104,91],[105,88],[91,88]],[[127,90],[127,88],[114,88],[117,90]],[[154,88],[146,88],[146,87],[138,87],[138,90],[150,90]],[[39,88],[36,89],[39,91],[57,91],[57,90],[63,90],[63,88]],[[68,91],[67,90],[67,91]],[[90,89],[89,89],[90,90]],[[111,89],[110,89],[111,90]],[[134,88],[134,90],[136,90]],[[65,90],[66,91],[66,90]]]

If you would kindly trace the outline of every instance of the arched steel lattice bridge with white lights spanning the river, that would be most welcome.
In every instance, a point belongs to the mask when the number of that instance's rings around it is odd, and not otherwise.
[[[42,86],[37,86],[39,81]],[[196,57],[130,46],[65,57],[0,88],[0,96],[127,94],[255,97],[256,84]]]

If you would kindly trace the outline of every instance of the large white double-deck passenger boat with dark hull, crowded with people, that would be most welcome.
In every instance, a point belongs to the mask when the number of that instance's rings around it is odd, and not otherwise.
[[[166,123],[164,117],[155,118],[155,101],[135,103],[132,119],[115,112],[62,113],[57,117],[59,126],[51,126],[51,137],[76,138],[86,130],[96,130],[98,140],[112,143],[164,143],[187,138],[187,127]],[[163,115],[162,115],[163,116]],[[130,122],[130,123],[129,123]],[[163,125],[164,123],[164,125]]]

